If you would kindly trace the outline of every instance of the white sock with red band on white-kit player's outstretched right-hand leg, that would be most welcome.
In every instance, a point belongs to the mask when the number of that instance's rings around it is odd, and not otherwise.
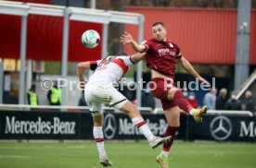
[[[153,133],[151,132],[143,118],[134,117],[132,119],[132,122],[134,126],[139,128],[139,130],[143,133],[143,135],[147,138],[148,141],[152,141],[155,138],[155,136],[153,135]]]

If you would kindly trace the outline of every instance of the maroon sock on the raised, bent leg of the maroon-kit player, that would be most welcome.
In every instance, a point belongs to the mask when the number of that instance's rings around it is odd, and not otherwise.
[[[180,109],[184,110],[186,114],[189,114],[189,111],[193,109],[191,104],[186,101],[186,99],[183,96],[183,93],[180,90],[175,91],[173,95],[173,101],[177,106],[180,107]]]

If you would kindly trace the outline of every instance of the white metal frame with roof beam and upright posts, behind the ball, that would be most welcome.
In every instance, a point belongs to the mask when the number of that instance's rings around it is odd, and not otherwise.
[[[15,15],[21,18],[21,40],[20,40],[20,72],[19,72],[19,104],[24,104],[25,100],[25,60],[26,60],[26,37],[27,37],[27,17],[30,14],[63,17],[63,43],[62,43],[62,61],[61,75],[62,78],[67,77],[67,62],[68,62],[68,43],[69,43],[69,21],[79,20],[86,22],[95,22],[104,24],[103,27],[103,49],[102,57],[107,54],[108,26],[109,22],[127,23],[139,26],[138,42],[143,41],[144,16],[140,14],[105,11],[98,9],[67,7],[67,6],[52,6],[39,5],[32,3],[20,3],[11,1],[0,1],[0,14]],[[142,77],[142,63],[137,65],[137,78]],[[64,89],[65,90],[65,89]],[[63,91],[64,92],[64,91]],[[65,104],[66,98],[62,94],[62,104]],[[140,90],[136,91],[138,100],[137,105],[140,106]]]

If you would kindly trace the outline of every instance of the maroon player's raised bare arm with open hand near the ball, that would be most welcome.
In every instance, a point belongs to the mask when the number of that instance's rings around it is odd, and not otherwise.
[[[143,44],[138,44],[137,42],[134,41],[133,36],[128,33],[127,31],[125,31],[122,36],[120,37],[120,41],[122,42],[122,44],[126,44],[126,43],[130,43],[132,45],[132,47],[134,48],[135,52],[145,52],[145,50],[147,49],[145,45]]]

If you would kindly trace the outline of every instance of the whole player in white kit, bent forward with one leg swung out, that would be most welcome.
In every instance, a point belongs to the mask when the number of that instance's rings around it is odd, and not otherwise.
[[[140,61],[145,54],[134,54],[128,56],[111,55],[102,60],[88,61],[77,65],[78,78],[81,83],[81,88],[84,88],[85,101],[89,106],[89,110],[93,116],[94,122],[94,138],[99,154],[100,163],[103,166],[111,166],[111,162],[107,157],[104,148],[104,137],[102,126],[104,115],[102,111],[103,105],[120,109],[125,114],[128,114],[134,126],[144,134],[151,148],[157,148],[160,144],[168,141],[170,137],[160,138],[155,137],[148,128],[145,120],[139,114],[135,105],[129,102],[118,90],[114,88],[113,83],[117,83],[122,75],[126,73],[130,66]],[[85,68],[95,70],[95,73],[85,80],[83,73]]]

